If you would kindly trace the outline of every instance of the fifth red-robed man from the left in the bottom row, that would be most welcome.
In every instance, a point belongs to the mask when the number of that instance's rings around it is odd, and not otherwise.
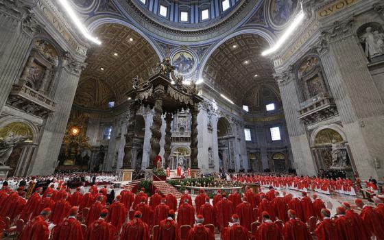
[[[180,240],[180,228],[174,217],[175,211],[170,210],[167,218],[160,221],[158,237],[154,240]]]

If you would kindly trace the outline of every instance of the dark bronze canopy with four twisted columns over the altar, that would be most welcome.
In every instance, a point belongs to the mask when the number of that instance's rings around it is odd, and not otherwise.
[[[156,66],[158,73],[149,77],[147,81],[134,77],[131,91],[126,93],[129,105],[127,134],[125,135],[125,147],[123,167],[119,170],[119,180],[132,180],[132,145],[135,128],[135,116],[140,106],[154,109],[153,124],[151,127],[152,137],[150,140],[151,152],[149,154],[149,167],[147,173],[152,173],[154,157],[160,153],[161,124],[164,115],[167,124],[165,128],[165,154],[163,159],[168,159],[171,154],[171,121],[173,115],[180,110],[191,111],[191,178],[195,178],[200,171],[197,160],[197,114],[198,104],[203,100],[198,96],[197,86],[194,82],[190,85],[183,83],[182,77],[173,72],[175,67],[171,66],[169,58],[159,62]],[[167,168],[165,161],[165,168]]]

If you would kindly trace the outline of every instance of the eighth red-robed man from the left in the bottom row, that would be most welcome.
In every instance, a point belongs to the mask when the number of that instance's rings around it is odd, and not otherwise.
[[[282,240],[283,233],[270,219],[269,213],[263,212],[261,213],[261,217],[263,219],[263,224],[257,228],[256,239]]]

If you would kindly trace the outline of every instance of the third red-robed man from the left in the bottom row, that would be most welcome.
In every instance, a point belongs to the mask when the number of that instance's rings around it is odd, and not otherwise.
[[[106,221],[108,210],[103,209],[99,219],[93,221],[93,224],[86,229],[85,240],[115,240],[117,239],[117,230],[115,226]]]

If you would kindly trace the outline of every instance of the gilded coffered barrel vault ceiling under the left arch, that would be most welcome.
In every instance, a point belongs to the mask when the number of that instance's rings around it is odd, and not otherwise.
[[[108,108],[108,101],[123,101],[132,89],[131,80],[147,79],[159,61],[143,37],[123,25],[105,24],[93,33],[101,47],[92,50],[80,77],[75,104],[89,108]]]

